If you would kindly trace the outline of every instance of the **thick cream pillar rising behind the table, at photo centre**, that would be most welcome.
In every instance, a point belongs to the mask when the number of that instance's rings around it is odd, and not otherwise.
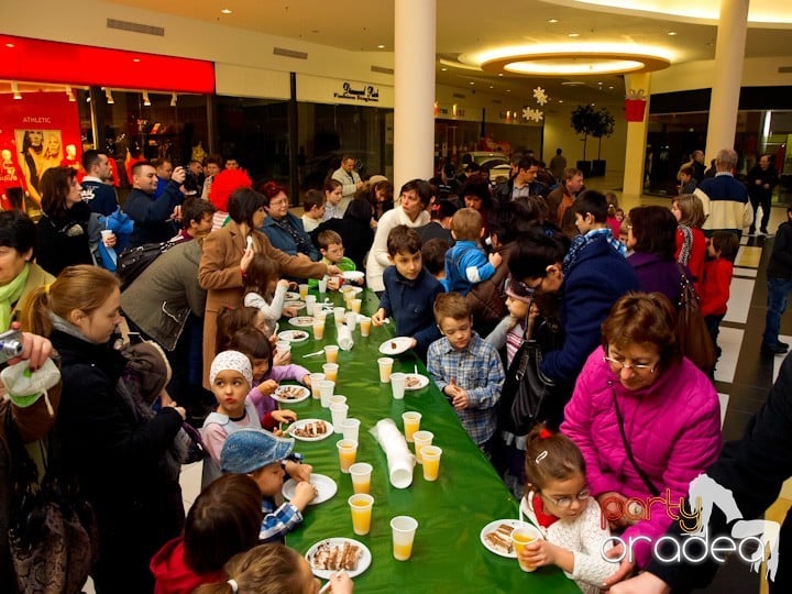
[[[394,2],[394,188],[433,174],[436,0]]]

